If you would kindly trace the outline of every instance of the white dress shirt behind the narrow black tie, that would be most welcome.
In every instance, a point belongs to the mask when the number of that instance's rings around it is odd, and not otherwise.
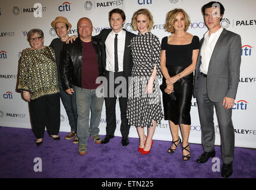
[[[115,72],[115,34],[110,31],[105,41],[106,45],[106,70]],[[124,50],[125,50],[125,30],[118,33],[118,72],[124,71]]]

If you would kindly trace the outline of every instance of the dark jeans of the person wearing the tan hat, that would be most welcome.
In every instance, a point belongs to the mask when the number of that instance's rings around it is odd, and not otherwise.
[[[77,103],[75,101],[75,93],[69,95],[63,90],[61,82],[59,84],[59,94],[61,95],[61,102],[65,107],[66,113],[68,115],[69,125],[71,131],[77,131]],[[75,91],[75,88],[73,88]]]

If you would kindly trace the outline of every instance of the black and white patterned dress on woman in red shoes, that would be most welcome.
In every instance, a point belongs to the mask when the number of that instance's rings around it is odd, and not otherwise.
[[[129,81],[127,118],[128,124],[137,127],[151,127],[152,121],[157,124],[163,119],[159,78],[160,42],[150,31],[135,36],[131,40],[132,78]],[[156,65],[157,75],[153,84],[153,93],[146,94],[148,79]]]

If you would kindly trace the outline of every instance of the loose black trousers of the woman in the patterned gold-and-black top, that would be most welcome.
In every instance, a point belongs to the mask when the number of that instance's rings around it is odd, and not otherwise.
[[[59,133],[61,122],[59,93],[31,100],[29,106],[32,129],[36,138],[43,138],[45,127],[49,135],[57,135]]]

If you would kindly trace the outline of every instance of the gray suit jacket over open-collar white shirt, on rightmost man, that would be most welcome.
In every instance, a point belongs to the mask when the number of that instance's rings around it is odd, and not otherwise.
[[[200,40],[200,52],[195,67],[194,97],[197,97],[203,42],[204,37]],[[223,29],[211,55],[207,73],[207,94],[212,102],[221,102],[225,96],[235,99],[239,83],[241,50],[241,37]]]

